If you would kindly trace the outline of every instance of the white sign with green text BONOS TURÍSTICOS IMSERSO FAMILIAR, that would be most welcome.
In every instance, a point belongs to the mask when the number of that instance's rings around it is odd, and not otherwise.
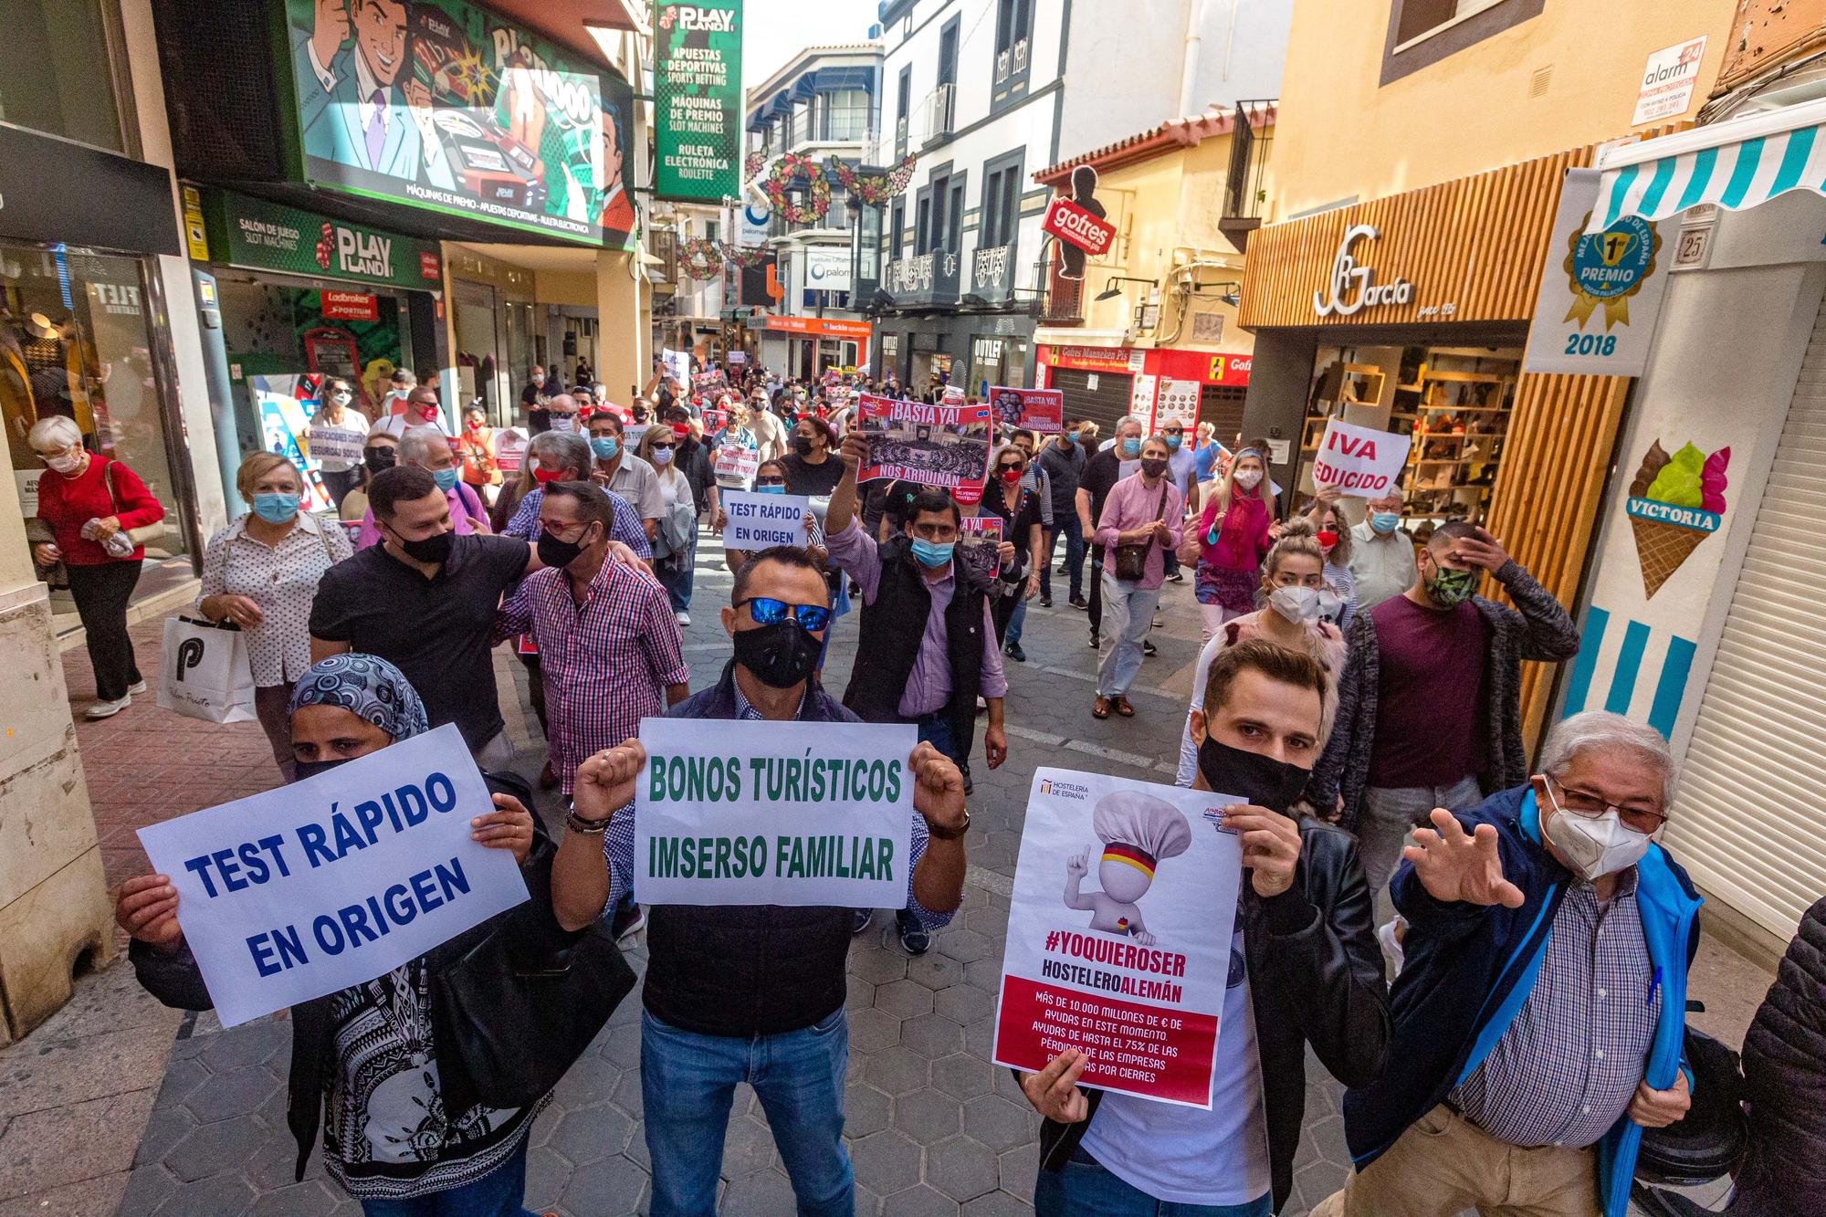
[[[900,908],[911,725],[646,718],[634,797],[643,905]]]

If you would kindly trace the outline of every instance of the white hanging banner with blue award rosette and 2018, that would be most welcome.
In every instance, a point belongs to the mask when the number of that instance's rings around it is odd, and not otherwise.
[[[1598,170],[1567,170],[1523,371],[1640,376],[1649,365],[1669,256],[1656,223],[1642,216],[1585,232],[1598,177]]]

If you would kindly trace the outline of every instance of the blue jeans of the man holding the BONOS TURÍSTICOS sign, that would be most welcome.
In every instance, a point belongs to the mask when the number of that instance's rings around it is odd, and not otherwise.
[[[838,1009],[778,1036],[701,1036],[641,1014],[641,1106],[654,1160],[652,1217],[714,1217],[736,1082],[761,1098],[800,1217],[853,1217],[844,1149],[849,1021]]]

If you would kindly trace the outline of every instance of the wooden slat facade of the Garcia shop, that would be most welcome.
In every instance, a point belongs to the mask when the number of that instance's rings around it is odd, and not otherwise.
[[[1302,329],[1324,344],[1351,344],[1351,331],[1439,323],[1527,323],[1552,238],[1565,170],[1587,166],[1592,148],[1508,164],[1408,194],[1357,203],[1307,219],[1271,225],[1249,238],[1238,322],[1245,329]],[[1326,291],[1338,241],[1351,225],[1380,238],[1355,254],[1377,283],[1406,278],[1408,305],[1377,305],[1322,318],[1313,292]],[[1426,305],[1453,303],[1452,316],[1421,318]],[[1435,342],[1450,345],[1441,331]],[[1426,345],[1417,334],[1411,345]],[[1497,473],[1490,530],[1561,605],[1576,605],[1596,528],[1629,380],[1523,373]],[[1501,596],[1494,579],[1485,592]],[[1523,667],[1523,729],[1536,746],[1548,711],[1552,672]]]

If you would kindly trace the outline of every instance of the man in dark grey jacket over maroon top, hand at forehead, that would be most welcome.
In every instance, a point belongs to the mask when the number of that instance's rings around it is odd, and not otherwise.
[[[1384,912],[1413,824],[1528,778],[1521,661],[1579,649],[1567,610],[1486,528],[1441,524],[1417,566],[1406,594],[1351,621],[1337,722],[1307,786],[1313,808],[1357,833]],[[1485,570],[1516,608],[1474,594]]]

